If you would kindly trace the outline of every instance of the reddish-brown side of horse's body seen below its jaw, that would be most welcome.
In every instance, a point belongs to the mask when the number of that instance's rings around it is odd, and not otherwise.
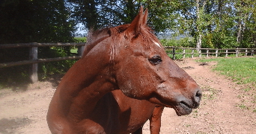
[[[120,109],[121,130],[132,133],[150,118],[155,104],[147,100],[128,98],[121,90],[112,91]]]

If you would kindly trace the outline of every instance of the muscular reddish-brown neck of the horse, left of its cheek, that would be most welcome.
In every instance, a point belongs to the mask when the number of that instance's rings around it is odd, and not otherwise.
[[[73,120],[81,118],[79,116],[86,118],[97,101],[115,89],[115,78],[112,77],[112,65],[109,62],[110,47],[104,43],[94,46],[67,71],[57,89],[64,115]]]

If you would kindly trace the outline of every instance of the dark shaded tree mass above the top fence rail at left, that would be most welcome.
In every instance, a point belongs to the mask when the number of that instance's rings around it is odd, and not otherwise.
[[[4,0],[0,13],[0,43],[70,42],[76,31],[64,1]]]

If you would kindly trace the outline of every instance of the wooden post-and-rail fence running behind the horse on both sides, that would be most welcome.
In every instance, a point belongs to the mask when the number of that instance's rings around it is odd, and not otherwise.
[[[38,59],[37,47],[46,47],[46,46],[78,46],[79,56]],[[85,48],[85,42],[82,42],[82,43],[21,43],[21,44],[1,44],[0,45],[0,49],[24,48],[24,47],[29,48],[29,60],[10,62],[10,63],[0,63],[0,68],[31,64],[30,77],[31,77],[31,81],[34,83],[38,80],[37,63],[80,59],[82,57],[82,53]],[[219,55],[223,55],[223,54],[225,54],[225,57],[228,57],[228,54],[236,54],[236,57],[238,57],[240,54],[244,54],[245,56],[249,56],[249,55],[252,56],[255,54],[256,48],[234,48],[234,49],[201,48],[197,50],[196,48],[175,48],[175,47],[167,46],[165,47],[165,51],[167,54],[171,54],[172,58],[175,60],[175,58],[177,57],[177,54],[181,54],[182,58],[185,58],[186,55],[188,54],[189,54],[189,57],[202,57],[202,55],[204,55],[205,57],[210,57],[213,55],[215,55],[215,57],[218,57]]]

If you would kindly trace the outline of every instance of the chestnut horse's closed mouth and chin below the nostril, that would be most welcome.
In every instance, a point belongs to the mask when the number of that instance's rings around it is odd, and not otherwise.
[[[177,106],[174,106],[178,116],[189,115],[192,112],[192,107],[188,103],[181,101]]]

